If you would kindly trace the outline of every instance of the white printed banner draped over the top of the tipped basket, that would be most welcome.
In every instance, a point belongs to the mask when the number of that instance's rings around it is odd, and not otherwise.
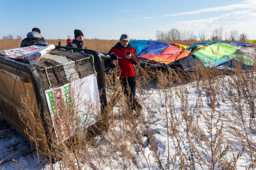
[[[26,58],[30,64],[36,64],[40,58],[48,51],[55,49],[55,46],[28,46],[23,48],[7,49],[0,51],[0,54],[5,54],[10,58]]]

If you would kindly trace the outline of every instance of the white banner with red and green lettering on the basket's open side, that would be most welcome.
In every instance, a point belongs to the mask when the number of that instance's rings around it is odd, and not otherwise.
[[[70,115],[70,117],[79,119],[79,127],[87,128],[88,126],[95,124],[97,120],[101,119],[100,97],[96,74],[65,84],[58,88],[46,90],[45,94],[54,130],[56,135],[61,135],[58,136],[58,139],[61,139],[62,141],[70,137],[70,133],[67,134],[66,129],[72,127],[75,130],[76,126],[61,119],[61,113],[59,113],[58,107],[56,108],[55,100],[62,99],[63,101],[66,101],[65,104],[72,103],[75,105],[76,114]],[[74,96],[70,96],[70,94]],[[71,102],[71,99],[74,101]],[[60,130],[61,133],[59,132]],[[74,133],[75,132],[72,131],[72,134]]]

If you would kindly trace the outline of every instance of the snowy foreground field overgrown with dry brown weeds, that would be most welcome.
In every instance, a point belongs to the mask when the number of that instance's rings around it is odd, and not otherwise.
[[[243,71],[240,63],[236,63],[233,72],[202,66],[197,69],[187,74],[139,67],[137,99],[143,105],[143,114],[139,117],[131,114],[118,75],[107,76],[108,85],[112,87],[113,79],[116,85],[115,90],[108,91],[109,105],[102,121],[86,130],[80,126],[65,127],[65,133],[70,136],[66,141],[57,140],[51,134],[52,148],[48,155],[51,159],[46,158],[45,165],[52,170],[236,170],[238,162],[244,161],[240,168],[254,170],[254,72]],[[155,97],[148,97],[152,87],[157,93]],[[23,108],[31,112],[26,106],[28,100],[29,97],[24,96]],[[229,109],[221,110],[220,104],[225,103],[229,103]],[[63,122],[77,124],[79,120],[72,116],[76,113],[75,104],[56,100],[55,105]],[[156,125],[163,127],[163,131]],[[33,127],[28,130],[33,138]],[[164,142],[159,140],[163,136]],[[37,143],[39,139],[33,140]],[[39,157],[44,154],[36,153]]]

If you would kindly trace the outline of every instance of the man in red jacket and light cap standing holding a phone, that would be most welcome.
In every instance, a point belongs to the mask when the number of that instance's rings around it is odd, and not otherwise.
[[[119,42],[110,49],[109,54],[117,56],[121,72],[119,79],[121,80],[124,93],[130,98],[131,109],[136,111],[136,115],[139,115],[142,106],[135,99],[139,59],[137,58],[136,49],[129,44],[129,41],[129,35],[126,33],[122,34]]]

